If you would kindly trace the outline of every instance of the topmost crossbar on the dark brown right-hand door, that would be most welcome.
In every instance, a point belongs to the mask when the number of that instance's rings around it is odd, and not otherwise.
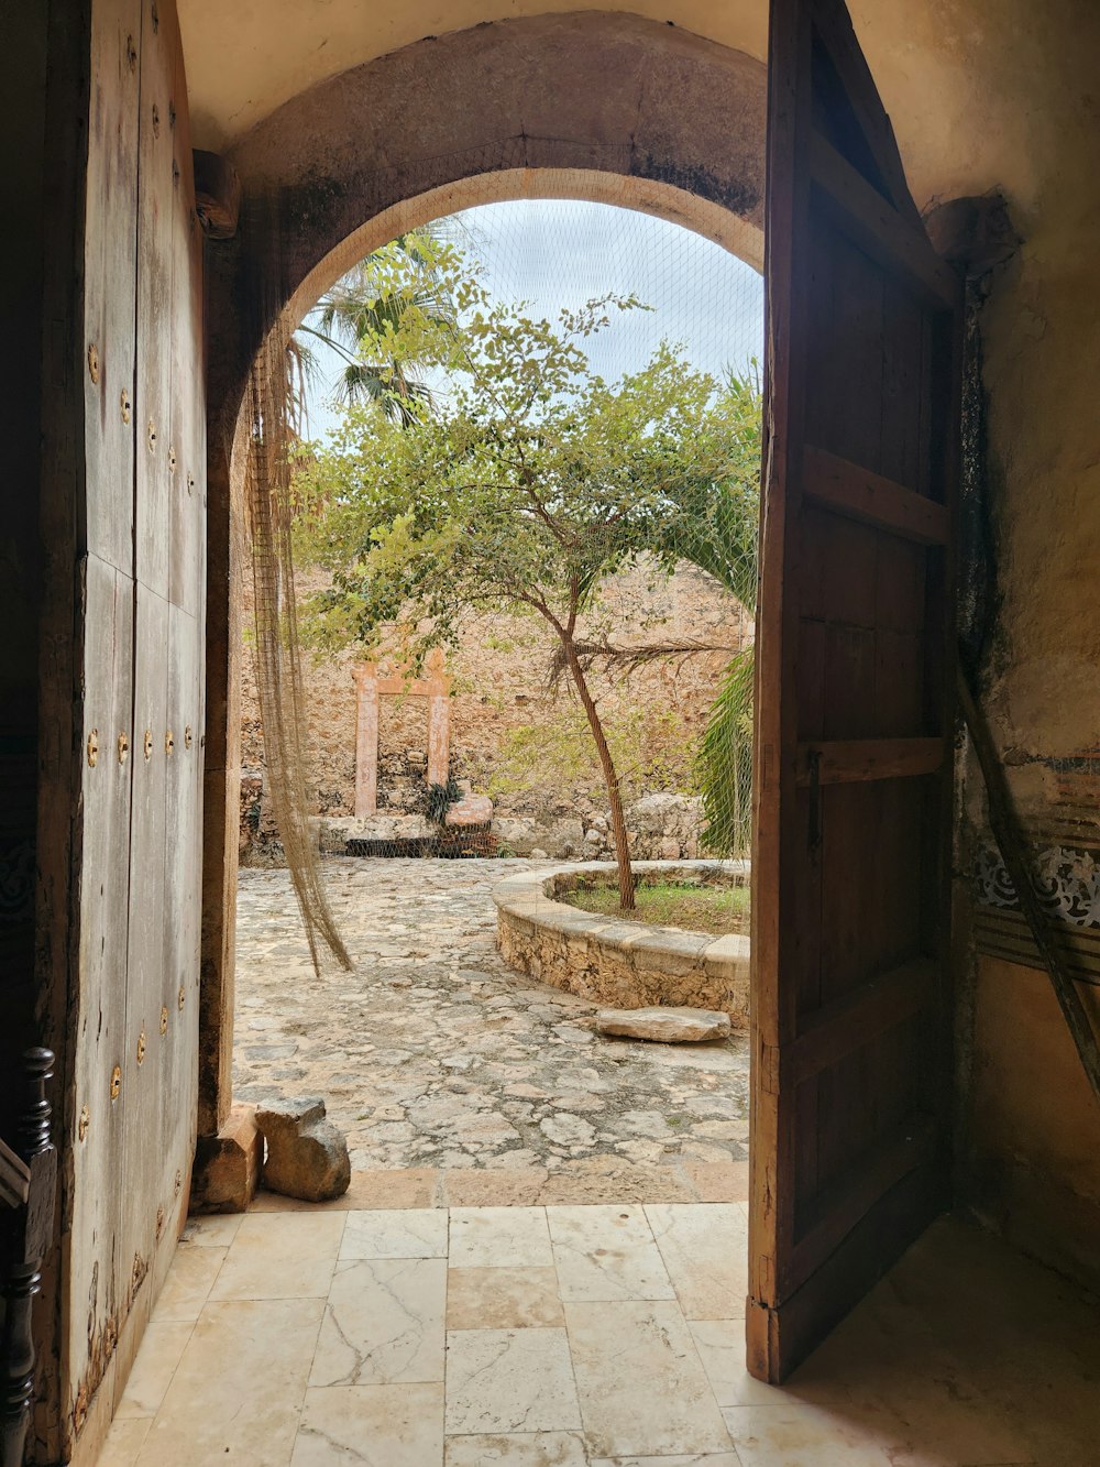
[[[933,307],[955,310],[961,282],[950,266],[820,132],[810,144],[810,170],[818,201],[842,233],[884,268],[902,273]]]

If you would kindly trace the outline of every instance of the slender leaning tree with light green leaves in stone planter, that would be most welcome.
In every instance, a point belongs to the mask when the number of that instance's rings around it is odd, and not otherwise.
[[[400,622],[415,657],[456,640],[469,609],[551,628],[597,748],[629,910],[619,778],[579,623],[598,610],[603,579],[639,555],[672,572],[678,506],[729,472],[733,405],[669,346],[615,386],[591,371],[584,339],[632,299],[590,302],[556,326],[477,290],[471,301],[447,402],[412,431],[351,408],[302,475],[302,544],[333,572],[314,629],[370,644]]]

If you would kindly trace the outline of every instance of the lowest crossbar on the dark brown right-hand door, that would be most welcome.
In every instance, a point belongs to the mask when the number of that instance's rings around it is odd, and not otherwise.
[[[937,1147],[936,1121],[914,1115],[887,1133],[870,1153],[857,1157],[845,1175],[814,1200],[814,1222],[792,1250],[788,1285],[798,1288],[808,1279],[902,1178],[931,1160]]]

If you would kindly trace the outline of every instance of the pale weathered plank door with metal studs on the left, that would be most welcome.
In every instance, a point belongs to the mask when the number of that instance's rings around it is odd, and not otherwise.
[[[186,1213],[198,1086],[202,236],[173,0],[89,0],[62,1446],[113,1411]],[[78,389],[79,390],[79,389]],[[79,469],[78,469],[79,472]],[[59,800],[59,804],[62,801]]]

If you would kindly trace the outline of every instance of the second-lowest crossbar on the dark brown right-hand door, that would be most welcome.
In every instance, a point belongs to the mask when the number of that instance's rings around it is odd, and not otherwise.
[[[928,1008],[936,1000],[937,977],[931,958],[914,958],[826,1003],[782,1052],[780,1084],[802,1084]]]

